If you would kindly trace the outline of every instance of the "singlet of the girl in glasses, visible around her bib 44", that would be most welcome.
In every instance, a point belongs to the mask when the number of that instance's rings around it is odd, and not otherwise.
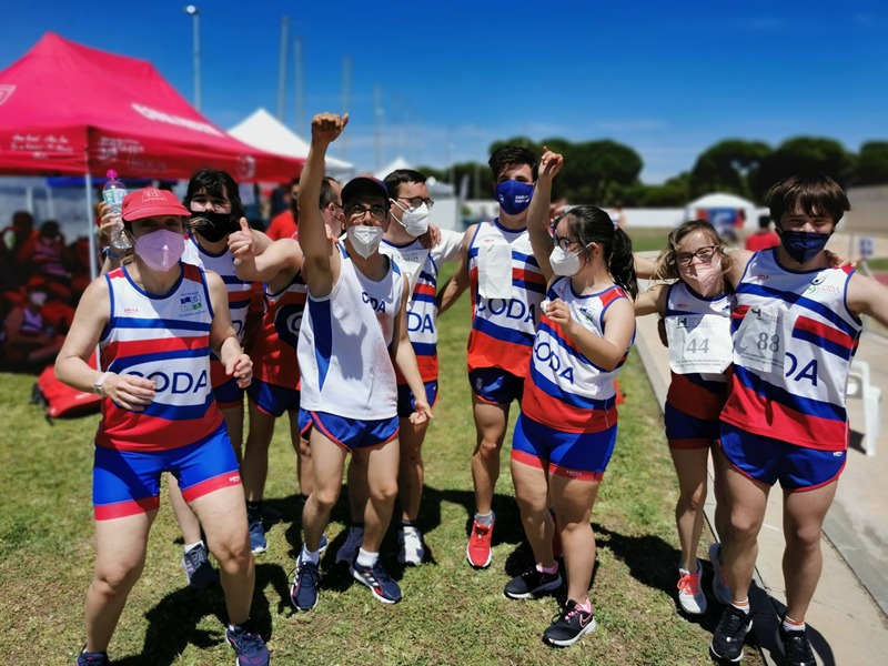
[[[666,292],[666,319],[680,320],[688,315],[730,317],[730,310],[735,302],[733,294],[707,299],[697,294],[680,280],[666,289],[668,290]],[[719,334],[723,334],[722,330],[709,332],[709,335]],[[730,336],[729,329],[724,330],[724,335]],[[727,395],[725,374],[670,372],[672,382],[666,395],[666,403],[695,418],[717,420]]]

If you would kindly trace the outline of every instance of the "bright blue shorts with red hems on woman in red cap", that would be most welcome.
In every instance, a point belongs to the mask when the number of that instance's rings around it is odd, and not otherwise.
[[[179,480],[185,502],[241,485],[238,458],[224,425],[194,444],[167,451],[118,451],[97,445],[92,470],[95,519],[157,511],[164,472]]]

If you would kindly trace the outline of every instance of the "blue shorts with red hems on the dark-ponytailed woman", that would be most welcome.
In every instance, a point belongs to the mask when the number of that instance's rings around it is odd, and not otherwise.
[[[567,478],[601,481],[616,441],[616,425],[597,433],[565,433],[519,414],[512,460]]]

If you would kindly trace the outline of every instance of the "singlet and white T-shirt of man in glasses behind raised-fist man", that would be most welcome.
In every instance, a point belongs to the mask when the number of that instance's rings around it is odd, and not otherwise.
[[[407,302],[407,335],[416,354],[420,375],[425,382],[437,380],[437,274],[438,266],[460,254],[463,234],[441,230],[441,242],[426,250],[418,240],[395,245],[384,240],[380,252],[395,260],[401,272],[415,284]],[[398,384],[406,384],[395,367]]]

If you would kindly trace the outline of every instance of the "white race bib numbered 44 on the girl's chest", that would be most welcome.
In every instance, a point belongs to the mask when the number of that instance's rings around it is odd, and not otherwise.
[[[669,367],[676,374],[720,374],[730,364],[730,320],[716,314],[666,317]]]

